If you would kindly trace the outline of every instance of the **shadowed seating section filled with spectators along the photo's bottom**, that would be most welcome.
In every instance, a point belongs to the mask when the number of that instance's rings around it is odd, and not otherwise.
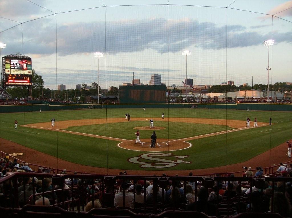
[[[25,191],[22,191],[22,181],[28,181],[28,179],[25,179],[26,177],[32,177],[33,182],[30,184],[30,188],[27,184]],[[46,188],[47,181],[49,183],[51,181],[51,186],[49,186],[51,188]],[[125,190],[125,187],[137,181],[138,184],[143,186],[144,203],[137,203],[138,197],[133,195],[136,192],[135,185],[129,191]],[[152,189],[147,189],[149,182],[146,181],[150,182],[153,186]],[[187,190],[186,187],[187,184],[190,184],[190,181],[193,181],[192,184],[196,187],[194,203],[189,202],[187,204],[186,200],[176,201],[175,192],[168,190],[181,189],[180,197],[186,199],[186,192],[182,190]],[[259,213],[257,217],[282,217],[279,214],[267,212],[270,210],[270,202],[272,203],[271,212],[274,212],[273,205],[275,205],[277,193],[281,192],[281,195],[287,191],[290,193],[288,186],[290,187],[291,183],[291,177],[157,177],[16,172],[0,179],[0,213],[6,214],[4,217],[186,218],[228,217],[236,214],[235,217],[252,217],[252,213],[257,212]],[[236,185],[234,186],[234,184]],[[225,191],[223,197],[219,197],[218,193],[221,190],[214,186],[223,186]],[[123,187],[125,189],[122,189]],[[204,189],[206,194],[202,196],[202,190]],[[252,194],[247,193],[248,190],[252,190]],[[244,191],[247,192],[244,193]],[[217,197],[210,199],[210,196],[214,193]],[[127,196],[129,195],[135,196],[135,198],[132,199],[132,206],[127,207]],[[152,195],[152,198],[149,197],[150,195]],[[33,205],[35,200],[41,196],[47,197],[48,204],[51,206]],[[119,201],[122,206],[115,209],[117,203],[115,197],[117,196],[120,196]],[[42,199],[41,204],[46,204],[45,198]],[[139,199],[141,200],[141,198]],[[94,208],[96,207],[95,200],[101,203],[103,209]],[[90,208],[94,209],[84,212],[88,204],[91,206]],[[202,205],[204,206],[202,207]],[[277,210],[276,206],[275,208]]]

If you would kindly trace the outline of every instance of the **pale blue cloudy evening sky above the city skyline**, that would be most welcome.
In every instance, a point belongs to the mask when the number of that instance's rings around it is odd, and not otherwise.
[[[292,82],[292,1],[232,2],[1,0],[0,41],[7,44],[2,55],[32,57],[45,87],[54,89],[97,82],[94,52],[105,53],[101,88],[131,83],[133,72],[144,84],[151,74],[162,74],[166,85],[181,85],[183,50],[192,52],[187,75],[194,84],[233,80],[240,85],[252,77],[266,84],[263,41],[273,38],[270,81]]]

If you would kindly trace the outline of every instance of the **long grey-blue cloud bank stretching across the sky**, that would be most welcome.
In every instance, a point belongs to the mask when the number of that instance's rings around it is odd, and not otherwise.
[[[2,34],[5,37],[6,32]],[[6,44],[21,41],[20,34],[17,27],[8,30],[7,35],[10,36]],[[273,34],[277,43],[292,42],[292,32],[284,32],[279,36],[277,32]],[[111,55],[145,49],[161,54],[167,53],[169,49],[169,52],[176,53],[190,46],[219,50],[226,48],[226,38],[227,48],[237,48],[259,45],[270,36],[271,32],[263,35],[256,28],[249,30],[242,25],[227,25],[226,28],[225,25],[194,19],[169,20],[169,23],[165,18],[57,23],[57,52],[60,56],[96,50],[105,52],[105,45],[106,52]],[[56,53],[56,27],[48,18],[23,24],[23,37],[25,53]],[[15,51],[11,50],[10,53]]]

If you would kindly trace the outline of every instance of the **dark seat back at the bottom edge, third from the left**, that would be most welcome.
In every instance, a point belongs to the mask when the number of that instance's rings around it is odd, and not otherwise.
[[[160,214],[151,214],[151,218],[153,217],[168,217],[168,218],[177,218],[177,217],[183,217],[183,218],[211,218],[208,215],[202,213],[202,212],[187,212],[187,211],[164,211]],[[214,217],[215,218],[215,217]]]

